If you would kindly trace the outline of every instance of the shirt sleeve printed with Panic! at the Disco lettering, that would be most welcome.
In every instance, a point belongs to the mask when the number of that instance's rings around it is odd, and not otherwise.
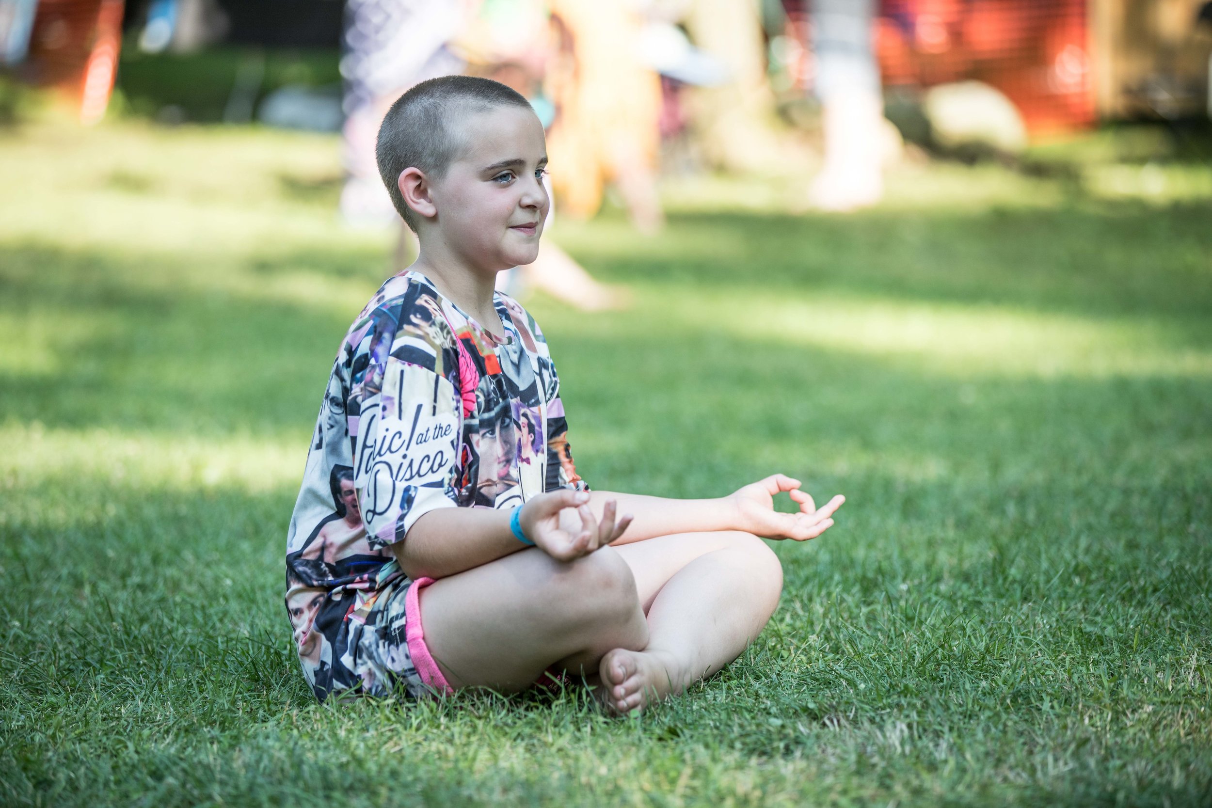
[[[459,409],[440,353],[398,310],[377,311],[354,361],[354,487],[372,548],[404,539],[423,514],[457,508]],[[350,422],[354,422],[353,409]]]

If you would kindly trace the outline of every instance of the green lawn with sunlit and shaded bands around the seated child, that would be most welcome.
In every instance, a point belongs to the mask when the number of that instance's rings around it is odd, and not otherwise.
[[[527,302],[590,485],[848,498],[738,661],[611,720],[304,684],[286,523],[390,243],[333,138],[0,133],[0,803],[1208,804],[1212,167],[1117,142],[558,223],[636,296]]]

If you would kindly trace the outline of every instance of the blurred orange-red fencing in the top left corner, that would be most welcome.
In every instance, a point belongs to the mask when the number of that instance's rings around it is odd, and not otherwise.
[[[40,0],[22,78],[61,90],[84,124],[105,114],[118,73],[124,0]]]

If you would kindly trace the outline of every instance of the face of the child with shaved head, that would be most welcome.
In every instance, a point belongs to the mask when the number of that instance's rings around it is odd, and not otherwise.
[[[459,130],[467,147],[430,190],[440,237],[475,269],[532,263],[550,206],[543,126],[530,109],[497,107]]]

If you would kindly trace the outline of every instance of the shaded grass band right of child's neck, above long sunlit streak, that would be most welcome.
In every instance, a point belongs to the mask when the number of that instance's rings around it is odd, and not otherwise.
[[[668,237],[577,251],[612,281],[846,292],[1044,313],[1206,316],[1207,204],[1104,202],[971,216],[671,213]]]

